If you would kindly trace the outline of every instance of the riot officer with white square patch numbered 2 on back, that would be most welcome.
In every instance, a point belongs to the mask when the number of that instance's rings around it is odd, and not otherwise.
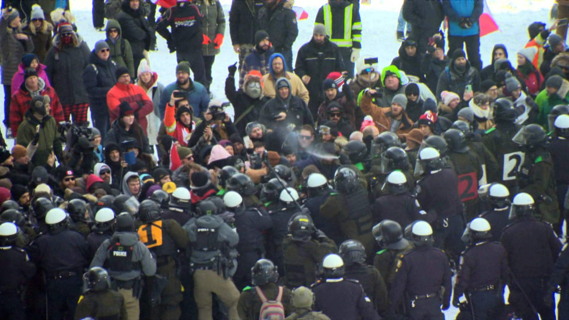
[[[514,192],[517,191],[516,172],[525,156],[512,142],[519,129],[515,123],[518,111],[508,99],[500,98],[492,102],[492,116],[496,125],[486,130],[483,143],[498,162],[498,179],[495,182],[504,184]]]

